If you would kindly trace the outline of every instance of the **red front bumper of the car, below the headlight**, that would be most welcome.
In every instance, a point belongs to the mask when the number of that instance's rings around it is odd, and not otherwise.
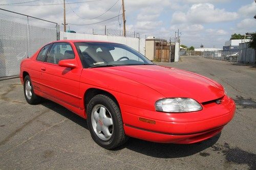
[[[199,142],[220,133],[234,116],[233,100],[224,96],[222,101],[220,105],[207,104],[203,110],[190,113],[162,113],[120,104],[124,131],[127,136],[154,142]]]

